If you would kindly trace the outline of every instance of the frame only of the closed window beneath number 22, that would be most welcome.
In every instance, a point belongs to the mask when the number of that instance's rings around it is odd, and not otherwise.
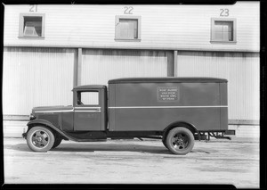
[[[127,38],[117,36],[117,24],[119,20],[137,20],[137,38]],[[116,41],[141,41],[141,16],[116,15],[115,16],[115,40]]]

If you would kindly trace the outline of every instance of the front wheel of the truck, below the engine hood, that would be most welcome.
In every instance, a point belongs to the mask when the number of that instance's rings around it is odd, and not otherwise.
[[[30,128],[27,134],[28,147],[34,152],[47,152],[54,145],[54,135],[49,128],[36,126]]]

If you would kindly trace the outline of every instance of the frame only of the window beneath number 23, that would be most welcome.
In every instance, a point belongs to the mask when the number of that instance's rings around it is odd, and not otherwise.
[[[232,21],[233,25],[233,31],[232,31],[232,36],[233,40],[232,41],[226,41],[226,40],[218,40],[215,39],[214,36],[214,31],[215,31],[215,21]],[[220,44],[236,44],[237,43],[237,19],[235,18],[212,18],[211,19],[211,37],[210,37],[210,42],[211,43],[220,43]]]

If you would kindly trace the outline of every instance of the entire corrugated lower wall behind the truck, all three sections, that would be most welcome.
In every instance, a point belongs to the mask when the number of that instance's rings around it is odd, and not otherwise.
[[[111,78],[166,77],[167,52],[84,49],[81,85]],[[4,47],[4,115],[27,115],[34,106],[72,104],[77,50]],[[229,80],[229,119],[259,120],[259,54],[178,52],[178,77]]]

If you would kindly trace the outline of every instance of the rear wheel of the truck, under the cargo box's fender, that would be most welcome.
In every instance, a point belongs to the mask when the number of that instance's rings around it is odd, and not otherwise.
[[[188,128],[177,127],[168,132],[166,146],[174,154],[190,153],[195,145],[195,138]]]

